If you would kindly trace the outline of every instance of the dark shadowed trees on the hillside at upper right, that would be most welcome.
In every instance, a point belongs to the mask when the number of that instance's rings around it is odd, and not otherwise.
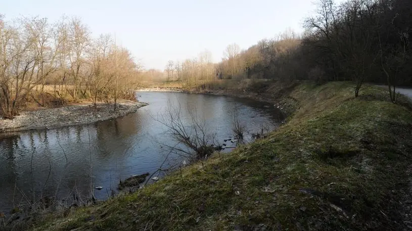
[[[412,83],[410,1],[356,0],[336,6],[322,0],[305,24],[311,34],[301,49],[308,68],[318,68],[322,79],[353,80],[356,96],[364,81]]]

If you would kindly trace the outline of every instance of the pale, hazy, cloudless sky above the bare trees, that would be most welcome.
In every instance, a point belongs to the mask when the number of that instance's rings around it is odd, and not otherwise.
[[[314,10],[310,0],[0,0],[0,6],[6,20],[79,17],[94,37],[116,34],[146,69],[162,70],[168,60],[197,57],[205,49],[218,62],[227,44],[247,49],[289,27],[302,32],[303,18]]]

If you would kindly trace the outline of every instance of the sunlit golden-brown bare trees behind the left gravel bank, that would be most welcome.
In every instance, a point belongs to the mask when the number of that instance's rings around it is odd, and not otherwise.
[[[0,16],[0,114],[13,118],[28,101],[39,106],[80,99],[134,98],[139,65],[109,34],[93,39],[79,19],[5,21]]]

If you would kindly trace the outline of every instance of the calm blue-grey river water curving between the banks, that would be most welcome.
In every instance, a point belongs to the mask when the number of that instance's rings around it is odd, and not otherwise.
[[[139,92],[136,96],[150,105],[123,118],[23,131],[2,138],[0,211],[8,212],[45,196],[66,201],[73,199],[73,195],[87,198],[90,188],[95,187],[104,187],[92,190],[97,199],[104,200],[111,189],[116,191],[120,179],[153,173],[168,153],[161,144],[176,144],[167,134],[167,127],[157,121],[168,105],[181,108],[186,124],[190,124],[187,109],[196,108],[197,116],[205,121],[219,144],[234,135],[235,111],[246,127],[246,140],[262,128],[273,130],[284,119],[273,105],[246,99],[166,92]],[[230,141],[225,144],[225,151],[236,146]],[[182,161],[178,155],[169,155],[164,167]]]

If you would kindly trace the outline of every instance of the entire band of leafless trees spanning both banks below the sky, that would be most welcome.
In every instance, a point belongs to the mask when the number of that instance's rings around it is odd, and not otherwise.
[[[92,38],[79,19],[6,21],[0,15],[0,115],[13,118],[27,103],[116,105],[134,99],[143,81],[164,78],[189,89],[211,89],[219,79],[353,81],[355,96],[364,82],[412,86],[411,26],[410,0],[320,0],[303,34],[288,30],[247,50],[233,43],[219,63],[205,51],[169,61],[162,72],[144,71],[110,34]],[[396,101],[394,89],[390,97]]]

